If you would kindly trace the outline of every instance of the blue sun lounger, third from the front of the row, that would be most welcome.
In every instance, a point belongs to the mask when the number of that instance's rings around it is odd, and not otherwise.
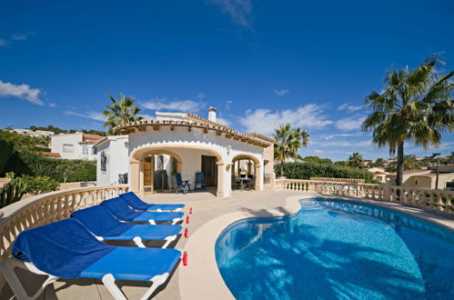
[[[183,217],[183,213],[137,212],[129,208],[119,197],[103,201],[101,205],[117,219],[126,222],[148,222],[152,225],[156,225],[156,222],[172,222],[175,225]]]

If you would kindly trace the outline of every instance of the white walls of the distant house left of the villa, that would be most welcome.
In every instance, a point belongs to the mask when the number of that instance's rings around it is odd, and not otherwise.
[[[54,135],[51,137],[51,152],[59,153],[66,159],[88,159],[95,160],[92,144],[80,144],[83,134]],[[73,152],[64,151],[65,145],[72,145]],[[83,154],[83,147],[87,147],[87,155]]]

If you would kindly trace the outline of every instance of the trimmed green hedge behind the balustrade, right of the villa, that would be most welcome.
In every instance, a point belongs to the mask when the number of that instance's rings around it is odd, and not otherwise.
[[[276,174],[280,175],[280,165],[276,165]],[[335,178],[358,178],[367,183],[374,182],[372,174],[349,166],[317,164],[317,163],[286,163],[284,175],[290,179],[310,179],[310,177],[335,177]]]

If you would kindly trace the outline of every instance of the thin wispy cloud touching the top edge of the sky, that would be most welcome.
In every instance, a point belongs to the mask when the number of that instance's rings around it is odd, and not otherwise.
[[[219,6],[223,13],[230,15],[233,23],[243,27],[250,26],[251,0],[209,0],[209,2]]]

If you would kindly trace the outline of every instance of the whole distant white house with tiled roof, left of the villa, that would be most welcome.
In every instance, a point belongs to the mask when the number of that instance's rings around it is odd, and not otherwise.
[[[101,135],[87,135],[83,133],[53,135],[51,137],[51,152],[58,153],[66,159],[96,160],[97,141]]]

